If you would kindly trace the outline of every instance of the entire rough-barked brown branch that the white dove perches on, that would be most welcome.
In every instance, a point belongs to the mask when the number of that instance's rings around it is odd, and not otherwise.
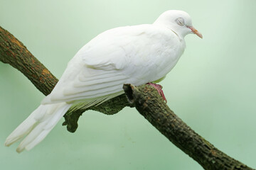
[[[14,35],[0,27],[0,61],[11,64],[12,67],[22,72],[43,94],[48,95],[58,82],[53,74],[34,57],[27,48],[18,41]],[[100,111],[107,115],[118,113],[125,106],[135,106],[146,120],[154,125],[178,148],[201,164],[204,169],[251,169],[250,167],[220,152],[217,148],[198,135],[183,123],[166,103],[149,85],[132,86],[124,85],[125,94],[112,98],[100,106],[68,111],[65,114],[65,123],[68,131],[75,132],[78,128],[78,118],[84,111]],[[127,101],[129,99],[129,102]]]

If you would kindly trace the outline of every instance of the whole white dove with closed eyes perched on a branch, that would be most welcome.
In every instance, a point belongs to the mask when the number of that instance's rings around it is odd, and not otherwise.
[[[156,82],[176,65],[186,48],[184,38],[190,33],[203,38],[193,27],[191,16],[178,10],[165,11],[151,24],[100,33],[68,62],[53,91],[11,132],[5,145],[23,138],[16,152],[32,149],[69,109],[97,106],[124,94],[123,84],[151,84],[161,94]]]

